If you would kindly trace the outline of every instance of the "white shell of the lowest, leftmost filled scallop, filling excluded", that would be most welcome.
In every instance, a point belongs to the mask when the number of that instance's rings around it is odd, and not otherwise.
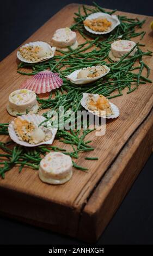
[[[46,119],[45,117],[43,117],[43,115],[38,115],[38,114],[21,115],[20,118],[22,120],[32,121],[36,125],[39,125],[42,121],[44,121]],[[17,144],[20,144],[22,146],[25,146],[25,147],[36,147],[36,146],[39,146],[39,145],[42,145],[42,144],[51,145],[53,143],[54,137],[56,136],[56,133],[57,133],[57,129],[51,129],[52,138],[50,139],[50,141],[45,141],[45,142],[41,142],[41,143],[38,143],[38,144],[30,144],[30,143],[25,142],[25,141],[20,141],[19,137],[16,135],[16,132],[14,130],[13,122],[14,121],[11,121],[11,123],[8,126],[9,136],[14,142],[16,142]]]

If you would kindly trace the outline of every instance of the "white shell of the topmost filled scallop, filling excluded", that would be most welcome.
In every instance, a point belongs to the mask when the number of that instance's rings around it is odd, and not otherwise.
[[[108,34],[110,33],[111,31],[113,31],[113,29],[115,27],[117,27],[119,24],[120,24],[120,21],[118,19],[118,16],[117,15],[109,15],[109,14],[106,14],[106,13],[94,13],[94,14],[90,14],[85,20],[93,20],[93,19],[97,19],[99,17],[102,17],[102,18],[107,18],[108,21],[111,21],[112,22],[112,25],[111,25],[111,28],[108,29],[108,31],[104,31],[104,32],[98,32],[98,31],[93,31],[92,29],[90,29],[89,27],[87,26],[84,26],[84,28],[92,33],[92,34],[96,34],[96,35],[102,35],[102,34]]]

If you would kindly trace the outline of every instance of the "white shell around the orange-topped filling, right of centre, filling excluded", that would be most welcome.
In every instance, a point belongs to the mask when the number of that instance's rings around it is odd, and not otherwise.
[[[93,113],[94,115],[97,115],[98,117],[103,117],[103,118],[107,118],[107,119],[113,119],[113,118],[117,118],[118,116],[119,116],[119,114],[120,114],[120,112],[119,112],[119,109],[118,109],[118,107],[116,106],[116,105],[114,105],[112,102],[110,102],[109,101],[109,104],[111,105],[111,108],[112,108],[112,112],[113,112],[113,114],[112,115],[106,115],[106,117],[105,116],[102,116],[102,115],[100,115],[99,114],[99,111],[91,111],[91,110],[89,110],[88,109],[88,107],[87,107],[87,104],[86,104],[86,101],[87,101],[87,98],[88,98],[88,96],[89,95],[94,95],[94,96],[97,96],[97,95],[99,95],[99,94],[90,94],[90,93],[83,93],[83,97],[82,97],[82,99],[81,99],[81,105],[85,108],[85,109],[87,109],[90,113]]]

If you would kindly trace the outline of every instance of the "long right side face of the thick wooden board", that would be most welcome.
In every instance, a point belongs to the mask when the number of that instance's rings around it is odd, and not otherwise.
[[[99,239],[151,155],[152,134],[153,109],[103,175],[85,204],[79,220],[78,239],[88,242]]]

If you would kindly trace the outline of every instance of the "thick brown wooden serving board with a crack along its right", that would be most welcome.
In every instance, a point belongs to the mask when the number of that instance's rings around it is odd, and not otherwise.
[[[53,32],[73,23],[78,4],[67,5],[36,31],[26,42],[50,41]],[[146,19],[142,43],[153,50],[153,34],[149,24],[153,17],[118,12],[128,17]],[[78,42],[83,42],[82,36]],[[139,38],[134,38],[138,41]],[[27,77],[17,74],[16,51],[1,62],[0,118],[5,123],[13,120],[6,111],[8,96],[18,89]],[[153,68],[153,57],[144,57]],[[152,76],[152,72],[151,72]],[[95,136],[92,153],[82,153],[77,164],[89,168],[88,173],[74,169],[72,179],[60,186],[47,185],[38,178],[38,172],[25,168],[19,174],[15,167],[0,179],[0,211],[5,216],[17,218],[59,233],[94,242],[117,210],[138,173],[152,151],[153,87],[139,86],[131,94],[112,99],[120,109],[119,118],[107,121],[106,135]],[[1,136],[6,141],[8,136]],[[88,138],[87,138],[88,139]],[[54,145],[61,147],[58,141]],[[62,144],[63,147],[63,144]],[[64,145],[64,147],[68,147]],[[98,156],[98,161],[84,160],[84,156]]]

